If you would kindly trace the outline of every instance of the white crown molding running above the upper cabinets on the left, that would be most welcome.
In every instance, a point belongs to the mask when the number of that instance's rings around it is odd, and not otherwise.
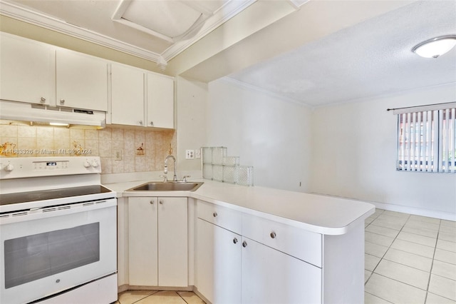
[[[31,11],[30,9],[23,8],[16,4],[4,1],[0,1],[0,4],[0,14],[4,16],[9,16],[29,24],[41,26],[45,29],[51,29],[52,31],[57,31],[58,33],[83,39],[94,44],[99,44],[100,46],[106,46],[110,49],[123,51],[124,53],[132,54],[154,62],[157,62],[160,56],[160,54],[156,54],[152,51],[147,51],[131,44],[125,44],[122,41],[97,34],[93,31],[88,31],[87,29],[81,29],[73,24],[67,24],[65,21],[60,19],[46,16],[44,14],[38,14],[35,11]]]

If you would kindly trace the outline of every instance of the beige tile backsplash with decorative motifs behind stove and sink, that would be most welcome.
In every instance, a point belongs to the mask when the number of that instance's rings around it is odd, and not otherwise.
[[[1,157],[100,156],[102,173],[161,171],[170,145],[175,153],[175,130],[0,124]]]

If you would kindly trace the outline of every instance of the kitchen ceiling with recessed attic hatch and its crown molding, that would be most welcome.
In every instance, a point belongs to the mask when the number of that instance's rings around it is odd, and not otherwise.
[[[162,65],[257,0],[1,0],[0,12]],[[307,0],[284,0],[298,9]]]

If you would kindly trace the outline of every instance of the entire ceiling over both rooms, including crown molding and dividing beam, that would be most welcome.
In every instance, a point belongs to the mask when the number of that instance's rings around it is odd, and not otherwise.
[[[456,49],[437,59],[410,51],[456,34],[456,1],[0,0],[0,13],[172,76],[228,75],[309,106],[443,83],[456,91]]]

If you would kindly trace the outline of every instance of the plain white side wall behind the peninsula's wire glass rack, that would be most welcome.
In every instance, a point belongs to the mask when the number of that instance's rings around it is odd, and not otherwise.
[[[227,78],[210,82],[208,97],[207,146],[254,166],[255,186],[309,191],[310,108]]]

